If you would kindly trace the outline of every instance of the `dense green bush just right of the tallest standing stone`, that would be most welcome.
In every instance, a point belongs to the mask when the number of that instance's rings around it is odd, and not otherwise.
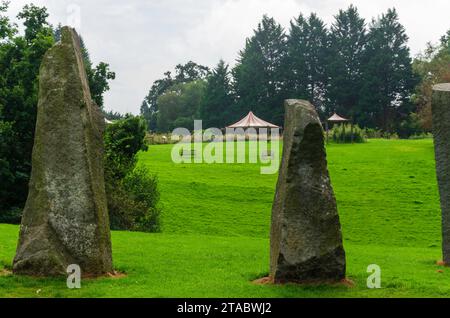
[[[131,115],[106,130],[105,187],[113,230],[160,231],[158,180],[135,169],[137,153],[148,149],[145,135],[145,121]]]

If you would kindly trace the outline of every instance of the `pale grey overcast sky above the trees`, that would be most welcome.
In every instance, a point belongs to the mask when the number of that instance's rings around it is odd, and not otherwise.
[[[153,81],[176,64],[234,64],[263,14],[288,28],[300,12],[316,12],[329,25],[352,3],[369,21],[395,7],[413,55],[450,29],[449,0],[12,0],[9,14],[30,2],[45,5],[52,24],[76,26],[92,60],[116,72],[106,109],[136,114]]]

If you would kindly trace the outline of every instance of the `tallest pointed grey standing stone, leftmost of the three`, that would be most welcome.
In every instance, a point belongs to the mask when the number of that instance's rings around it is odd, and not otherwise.
[[[103,176],[104,118],[89,91],[76,32],[64,27],[39,73],[39,103],[16,274],[112,272]]]

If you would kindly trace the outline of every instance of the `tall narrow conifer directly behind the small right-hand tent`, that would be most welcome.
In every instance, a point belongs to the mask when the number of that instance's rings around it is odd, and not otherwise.
[[[330,31],[328,112],[335,110],[347,117],[356,115],[365,45],[366,26],[358,9],[351,5],[345,11],[340,10]]]

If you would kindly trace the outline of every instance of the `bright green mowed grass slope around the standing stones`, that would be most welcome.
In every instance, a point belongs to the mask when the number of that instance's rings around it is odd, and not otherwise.
[[[259,286],[268,273],[276,175],[258,164],[174,164],[172,146],[152,146],[140,164],[158,174],[163,233],[113,232],[125,278],[83,281],[0,273],[0,297],[448,297],[440,252],[440,210],[432,140],[330,145],[347,274],[345,286]],[[8,269],[17,226],[0,225],[0,269]],[[382,288],[366,287],[367,267]]]

